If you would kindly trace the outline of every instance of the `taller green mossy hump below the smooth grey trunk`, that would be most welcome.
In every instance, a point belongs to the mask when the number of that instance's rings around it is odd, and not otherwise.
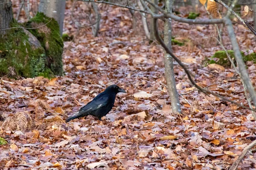
[[[47,67],[54,75],[63,75],[63,40],[59,33],[58,22],[38,12],[35,17],[26,23],[27,28],[40,27],[40,29],[29,29],[46,51]],[[47,71],[49,72],[49,70]],[[48,74],[45,72],[44,74]]]

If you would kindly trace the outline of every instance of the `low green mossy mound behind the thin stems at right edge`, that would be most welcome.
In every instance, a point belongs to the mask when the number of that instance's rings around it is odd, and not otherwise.
[[[234,51],[233,50],[228,50],[227,52],[230,54],[230,57],[235,61]],[[244,55],[244,52],[241,52],[241,55],[242,55],[245,62],[253,61],[254,63],[256,63],[256,53],[251,53],[249,55]],[[213,63],[219,64],[219,65],[224,66],[224,67],[230,67],[231,66],[231,62],[227,58],[227,54],[226,54],[225,51],[215,52],[215,54],[212,55],[212,57],[206,58],[203,61],[202,65],[207,66],[207,65],[213,64]],[[236,62],[235,62],[235,64],[236,64]]]

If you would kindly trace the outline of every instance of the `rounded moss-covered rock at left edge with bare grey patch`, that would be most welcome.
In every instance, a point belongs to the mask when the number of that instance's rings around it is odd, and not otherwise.
[[[11,27],[18,26],[13,22]],[[0,75],[35,77],[44,72],[46,56],[40,42],[25,29],[0,37]]]

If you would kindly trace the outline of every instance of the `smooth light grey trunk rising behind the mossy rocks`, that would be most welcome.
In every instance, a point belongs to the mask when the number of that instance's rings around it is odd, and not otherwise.
[[[60,27],[60,34],[63,32],[63,22],[66,0],[41,0],[38,12],[43,12],[47,17],[54,18]]]

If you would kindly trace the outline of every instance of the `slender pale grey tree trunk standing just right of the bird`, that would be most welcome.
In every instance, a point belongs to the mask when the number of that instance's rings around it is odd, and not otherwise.
[[[174,0],[166,0],[166,12],[172,12],[172,4]],[[166,19],[164,24],[164,43],[169,49],[172,49],[172,20]],[[169,96],[172,102],[172,112],[181,113],[179,95],[176,89],[175,76],[173,70],[173,59],[171,55],[165,53],[165,76]]]

